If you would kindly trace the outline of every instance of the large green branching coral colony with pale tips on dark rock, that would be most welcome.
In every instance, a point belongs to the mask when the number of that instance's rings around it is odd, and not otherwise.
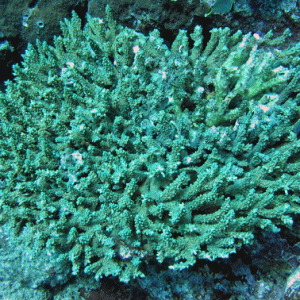
[[[0,95],[0,221],[21,243],[128,282],[150,259],[181,270],[292,225],[299,46],[275,49],[288,31],[213,29],[204,45],[197,26],[192,48],[180,30],[169,49],[109,9],[61,27]]]

